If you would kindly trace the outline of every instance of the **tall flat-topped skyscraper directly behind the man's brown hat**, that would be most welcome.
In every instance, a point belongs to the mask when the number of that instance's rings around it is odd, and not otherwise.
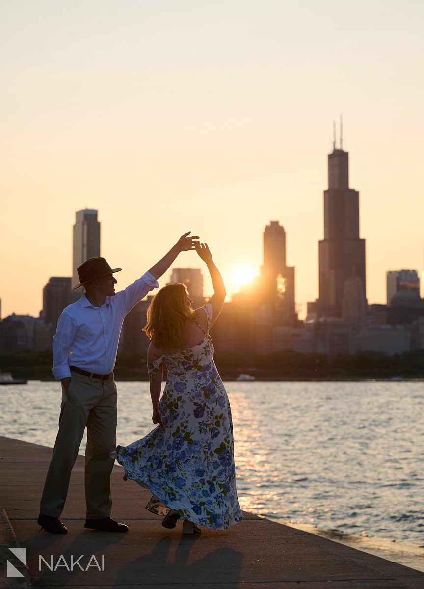
[[[72,286],[78,284],[78,266],[91,257],[100,256],[100,223],[97,210],[77,211],[74,225],[74,245],[72,257]],[[81,289],[73,291],[74,300],[81,296]]]

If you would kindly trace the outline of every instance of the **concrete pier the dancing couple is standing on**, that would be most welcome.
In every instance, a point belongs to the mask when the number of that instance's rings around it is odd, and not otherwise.
[[[181,520],[174,530],[166,530],[159,517],[144,509],[148,491],[134,481],[123,481],[122,468],[117,465],[111,478],[112,517],[130,530],[126,534],[86,530],[83,456],[75,462],[62,514],[68,534],[48,534],[40,529],[37,517],[51,451],[46,446],[0,438],[0,587],[424,587],[420,571],[249,513],[225,532],[203,528],[201,534],[182,535]],[[27,568],[14,557],[11,547],[26,549]],[[72,559],[75,562],[81,555],[79,565],[67,570]],[[20,567],[24,577],[7,578],[7,560]],[[45,562],[56,570],[49,570]]]

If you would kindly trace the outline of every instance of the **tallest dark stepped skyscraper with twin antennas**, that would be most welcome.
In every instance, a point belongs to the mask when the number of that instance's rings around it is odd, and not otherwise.
[[[349,154],[328,156],[329,187],[324,191],[324,239],[319,241],[320,316],[342,317],[344,284],[352,274],[363,285],[366,305],[365,239],[359,237],[359,192],[349,188]]]

